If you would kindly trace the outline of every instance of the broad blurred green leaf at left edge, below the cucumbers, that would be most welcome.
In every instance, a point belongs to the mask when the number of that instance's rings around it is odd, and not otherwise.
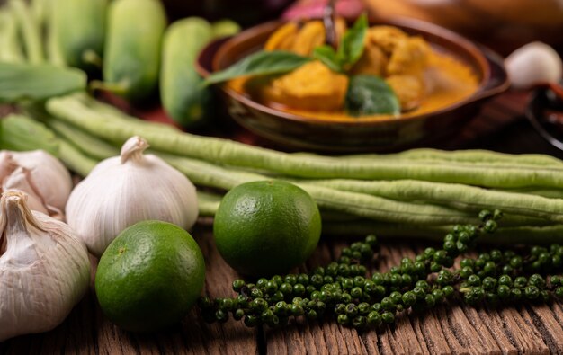
[[[76,68],[0,63],[0,102],[47,100],[85,87],[86,75]]]

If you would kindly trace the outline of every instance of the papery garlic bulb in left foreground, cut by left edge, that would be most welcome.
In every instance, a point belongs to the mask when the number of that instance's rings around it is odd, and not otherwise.
[[[26,200],[21,191],[4,191],[0,200],[0,342],[53,329],[90,284],[85,245]]]

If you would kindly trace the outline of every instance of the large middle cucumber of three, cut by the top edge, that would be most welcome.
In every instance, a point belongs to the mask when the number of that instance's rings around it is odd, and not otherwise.
[[[108,89],[130,101],[154,93],[165,26],[165,9],[158,0],[113,1],[104,47],[104,83],[94,88]]]

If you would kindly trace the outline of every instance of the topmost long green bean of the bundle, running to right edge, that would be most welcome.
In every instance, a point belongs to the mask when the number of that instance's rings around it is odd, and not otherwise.
[[[563,174],[549,166],[536,169],[518,166],[477,169],[472,164],[424,164],[416,162],[372,159],[346,161],[340,158],[291,155],[242,143],[200,137],[173,131],[142,129],[118,117],[108,117],[89,109],[72,96],[47,102],[47,110],[62,120],[79,126],[91,134],[123,142],[133,135],[142,135],[158,150],[191,156],[215,164],[256,168],[306,178],[347,179],[414,179],[433,182],[459,182],[487,187],[524,186],[563,187]],[[112,120],[113,119],[113,120]]]

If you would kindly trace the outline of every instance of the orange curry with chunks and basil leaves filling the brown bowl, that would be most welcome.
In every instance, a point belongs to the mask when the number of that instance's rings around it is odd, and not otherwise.
[[[347,29],[337,20],[334,46],[326,44],[327,37],[321,21],[285,23],[273,31],[258,57],[250,56],[275,70],[255,70],[249,57],[233,66],[239,70],[225,70],[237,75],[223,78],[237,93],[275,110],[331,121],[413,117],[478,90],[472,67],[398,27],[368,27],[361,18]],[[278,70],[276,58],[297,60]]]

